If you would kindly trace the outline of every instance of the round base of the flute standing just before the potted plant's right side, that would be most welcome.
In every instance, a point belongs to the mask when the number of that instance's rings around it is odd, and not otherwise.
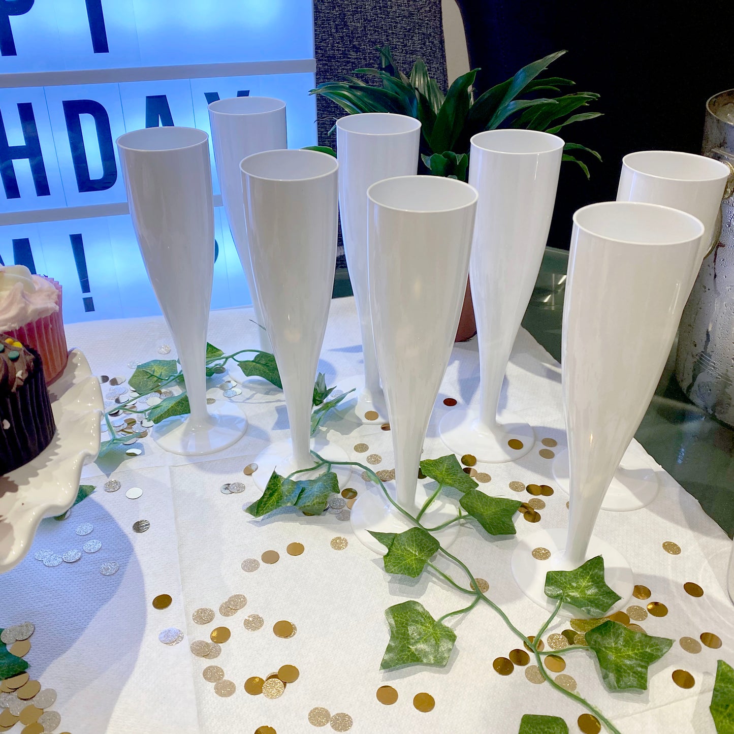
[[[520,459],[535,443],[532,427],[512,413],[502,413],[490,431],[479,423],[476,410],[454,408],[443,416],[438,432],[454,454],[472,454],[477,461],[490,464]]]

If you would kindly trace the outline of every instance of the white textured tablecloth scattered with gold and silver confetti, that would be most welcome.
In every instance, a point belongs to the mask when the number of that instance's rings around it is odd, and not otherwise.
[[[233,352],[255,344],[255,326],[247,309],[211,313],[209,341]],[[157,348],[170,344],[162,319],[127,319],[71,324],[70,345],[87,355],[95,374],[129,377],[131,360],[161,358]],[[361,369],[360,337],[352,299],[333,301],[322,350],[321,371],[327,382],[357,374]],[[172,352],[168,358],[174,357]],[[165,358],[165,357],[164,357]],[[241,377],[238,368],[231,374]],[[424,457],[448,453],[437,437],[437,423],[450,396],[462,403],[478,400],[479,366],[476,341],[455,347],[438,396]],[[247,385],[247,384],[246,384]],[[245,465],[273,440],[288,435],[285,406],[280,391],[244,385],[241,401],[250,420],[247,435],[216,457],[186,459],[159,451],[149,437],[139,457],[126,459],[114,470],[109,464],[85,468],[84,482],[95,484],[95,493],[73,509],[68,520],[45,520],[29,556],[0,577],[0,626],[30,620],[36,625],[27,655],[29,673],[43,687],[55,688],[54,708],[62,716],[57,731],[72,734],[102,732],[134,734],[194,734],[241,732],[249,734],[269,725],[277,734],[310,734],[308,712],[324,706],[331,713],[344,711],[354,719],[355,734],[454,732],[515,734],[523,713],[562,716],[571,732],[584,711],[547,683],[535,685],[517,667],[508,677],[497,675],[493,660],[520,647],[517,639],[490,608],[480,606],[471,614],[448,619],[457,632],[451,660],[443,669],[413,666],[398,672],[380,672],[379,662],[388,642],[384,610],[407,599],[420,600],[439,617],[465,606],[465,597],[447,589],[430,574],[412,580],[388,577],[382,563],[357,542],[349,523],[334,515],[304,517],[280,514],[253,520],[242,512],[258,497]],[[107,386],[103,386],[103,393]],[[553,358],[521,330],[507,371],[502,401],[535,428],[538,440],[552,437],[564,443],[560,369]],[[375,469],[393,468],[391,435],[379,426],[357,426],[348,421],[327,423],[327,436],[355,460],[364,462],[353,446],[364,442],[369,453],[380,454]],[[537,482],[554,486],[551,462],[539,457],[539,443],[526,457],[500,465],[477,465],[492,476],[480,488],[487,493],[520,498],[509,482]],[[112,476],[122,489],[106,493],[103,483]],[[642,732],[713,734],[708,705],[711,700],[716,660],[734,664],[734,608],[725,592],[731,542],[702,512],[697,501],[664,470],[659,470],[661,492],[637,512],[602,512],[596,534],[613,543],[632,564],[636,584],[652,589],[650,600],[669,608],[666,617],[642,622],[650,634],[698,638],[716,633],[723,641],[719,650],[703,647],[691,654],[677,642],[661,661],[650,668],[649,690],[640,694],[609,694],[603,688],[591,653],[567,655],[565,672],[575,677],[578,691],[610,717],[619,730]],[[241,481],[244,493],[223,495],[224,482]],[[349,486],[360,491],[360,473]],[[141,487],[142,497],[126,498],[129,487]],[[556,490],[544,498],[540,523],[517,517],[517,538],[538,528],[565,526],[567,496]],[[150,529],[137,534],[136,520],[148,520]],[[92,523],[88,537],[75,534],[81,523]],[[330,540],[349,539],[344,551],[335,551]],[[101,551],[84,553],[75,564],[49,568],[34,560],[37,550],[59,553],[81,548],[89,538],[102,542]],[[301,542],[301,556],[286,553],[289,542]],[[680,545],[680,555],[662,548],[665,541]],[[509,557],[516,539],[487,539],[476,526],[462,528],[451,551],[470,562],[476,576],[490,584],[490,595],[521,630],[534,634],[545,619],[515,586]],[[266,550],[280,553],[280,562],[262,564],[255,573],[244,573],[243,559],[258,558]],[[116,561],[120,571],[100,573],[103,562]],[[695,581],[704,589],[700,598],[688,596],[683,583]],[[172,605],[164,610],[151,606],[153,597],[170,594]],[[247,596],[247,606],[233,617],[217,617],[210,625],[192,621],[199,607],[218,610],[232,594]],[[632,600],[631,603],[635,603]],[[644,603],[642,603],[644,605]],[[261,614],[260,631],[247,631],[242,620]],[[297,626],[292,639],[272,633],[278,619]],[[232,638],[222,645],[215,661],[195,658],[189,643],[208,639],[217,625],[226,625]],[[164,628],[186,633],[181,644],[161,644]],[[548,631],[567,627],[560,620]],[[220,698],[201,672],[210,664],[225,671],[236,683],[236,693]],[[266,677],[283,664],[293,664],[300,677],[277,700],[252,697],[244,681]],[[685,669],[695,686],[678,688],[671,674]],[[377,701],[375,691],[389,683],[399,693],[394,705]],[[435,698],[434,711],[413,708],[413,696],[426,691]],[[18,731],[21,730],[18,724]],[[322,730],[324,731],[324,730]],[[327,727],[325,731],[330,731]]]

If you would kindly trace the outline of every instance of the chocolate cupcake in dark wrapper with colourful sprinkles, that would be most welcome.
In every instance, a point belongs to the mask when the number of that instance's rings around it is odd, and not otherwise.
[[[0,474],[35,459],[55,432],[38,352],[0,335]]]

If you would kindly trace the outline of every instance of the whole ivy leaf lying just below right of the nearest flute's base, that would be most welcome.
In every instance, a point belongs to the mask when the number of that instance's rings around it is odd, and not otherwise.
[[[673,641],[636,632],[608,619],[586,633],[586,643],[594,650],[602,680],[610,691],[644,691],[647,668],[670,650]]]

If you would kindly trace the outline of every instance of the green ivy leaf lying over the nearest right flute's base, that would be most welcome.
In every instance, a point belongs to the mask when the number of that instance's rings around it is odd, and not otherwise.
[[[622,597],[604,580],[601,556],[589,559],[573,571],[548,571],[545,595],[585,611],[589,617],[603,617]]]

